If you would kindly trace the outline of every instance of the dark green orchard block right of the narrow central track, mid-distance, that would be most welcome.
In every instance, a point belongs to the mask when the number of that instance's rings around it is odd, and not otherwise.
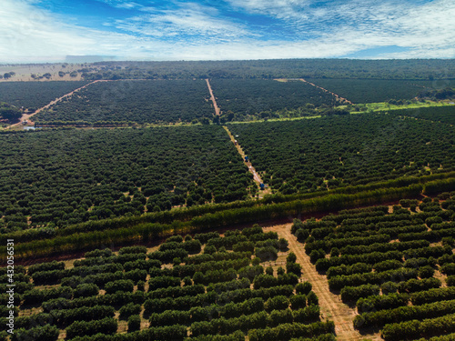
[[[283,194],[455,167],[453,126],[395,115],[234,124],[229,129],[264,182]]]

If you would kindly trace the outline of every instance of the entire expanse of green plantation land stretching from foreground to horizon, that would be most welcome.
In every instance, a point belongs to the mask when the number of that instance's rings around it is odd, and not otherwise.
[[[454,65],[3,66],[0,341],[453,341]]]

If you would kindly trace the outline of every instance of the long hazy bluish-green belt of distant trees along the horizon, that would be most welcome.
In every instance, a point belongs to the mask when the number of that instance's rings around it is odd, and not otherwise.
[[[203,62],[98,62],[86,79],[112,78],[373,78],[425,79],[449,84],[455,65],[447,59],[276,59]],[[100,70],[101,69],[101,70]],[[444,70],[443,72],[441,70]],[[91,71],[96,71],[93,74]],[[441,79],[441,80],[438,80]]]

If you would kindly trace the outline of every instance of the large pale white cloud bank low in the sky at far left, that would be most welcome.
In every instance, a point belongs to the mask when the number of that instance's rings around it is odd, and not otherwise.
[[[162,42],[144,42],[140,37],[121,35],[66,24],[63,18],[38,9],[24,0],[2,0],[0,8],[0,58],[40,59],[56,55],[157,54]],[[147,44],[145,44],[147,43]]]

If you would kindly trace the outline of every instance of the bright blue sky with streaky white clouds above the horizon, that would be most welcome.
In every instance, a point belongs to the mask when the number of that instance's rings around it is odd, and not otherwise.
[[[454,0],[0,0],[0,62],[454,58]]]

